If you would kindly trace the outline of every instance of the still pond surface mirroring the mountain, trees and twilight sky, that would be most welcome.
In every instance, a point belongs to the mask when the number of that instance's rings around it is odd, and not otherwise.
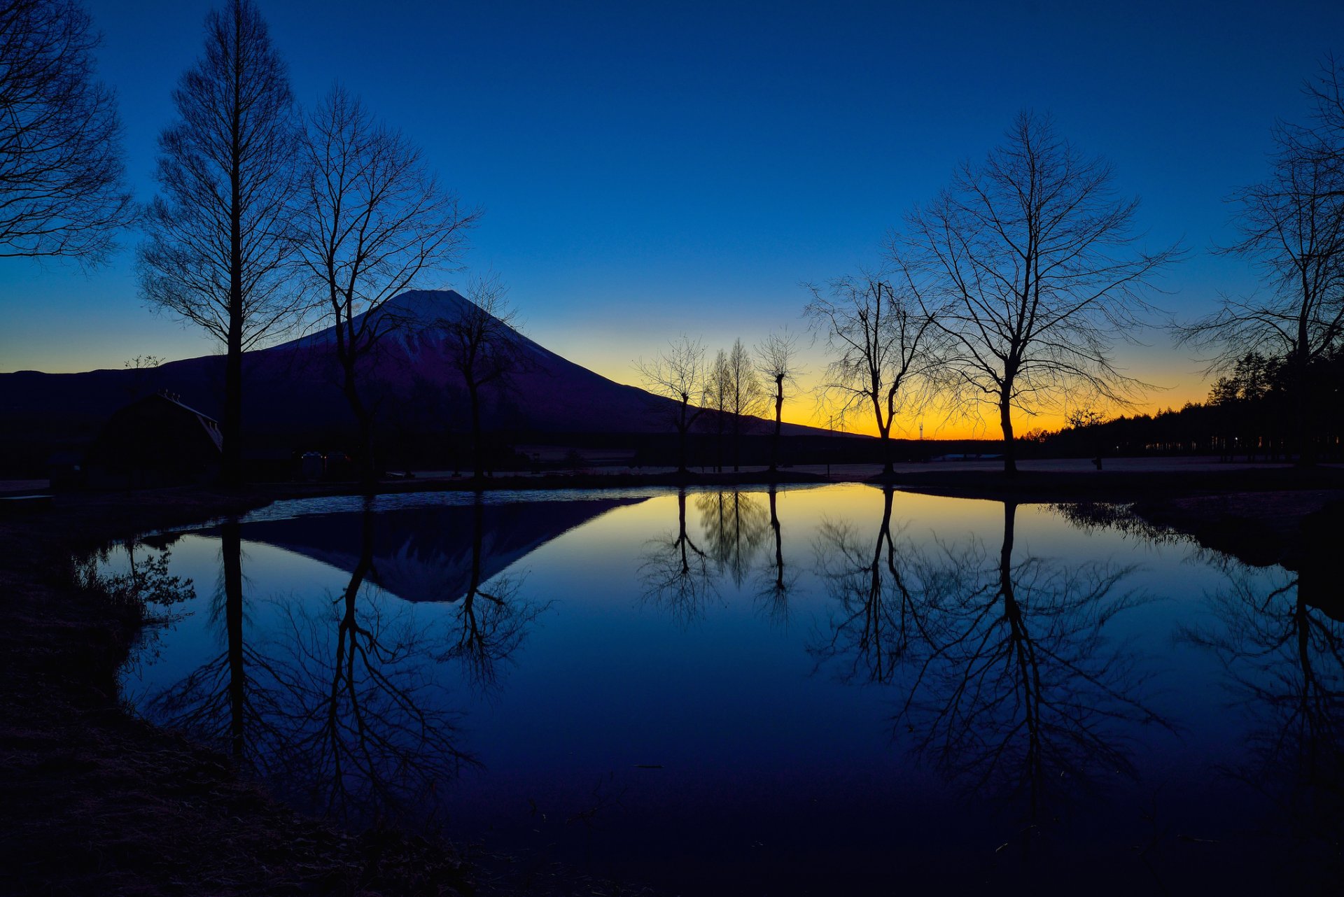
[[[864,485],[328,498],[101,568],[167,620],[136,709],[353,827],[660,893],[1327,890],[1332,568],[1097,520]]]

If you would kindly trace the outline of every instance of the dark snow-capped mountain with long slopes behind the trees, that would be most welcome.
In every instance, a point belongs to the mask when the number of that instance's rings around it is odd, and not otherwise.
[[[448,333],[434,321],[469,308],[453,290],[398,295],[383,310],[415,321],[390,333],[370,357],[364,389],[379,407],[383,427],[423,432],[465,428],[461,377],[450,365]],[[528,365],[511,389],[487,396],[488,428],[530,432],[671,431],[673,403],[589,371],[512,332]],[[243,359],[243,426],[255,442],[289,434],[348,432],[353,423],[337,384],[335,329],[249,352]],[[168,389],[215,418],[223,402],[223,357],[172,361],[145,371],[86,373],[0,373],[0,430],[91,435],[108,415],[132,399]],[[789,432],[820,432],[786,424]]]

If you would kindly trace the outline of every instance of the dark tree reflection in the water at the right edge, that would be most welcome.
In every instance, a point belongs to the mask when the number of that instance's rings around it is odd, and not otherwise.
[[[1218,626],[1181,636],[1222,661],[1250,717],[1247,761],[1228,769],[1277,808],[1266,834],[1292,880],[1344,873],[1344,600],[1329,538],[1305,533],[1296,576],[1226,559],[1210,596]],[[1301,882],[1306,884],[1306,882]]]

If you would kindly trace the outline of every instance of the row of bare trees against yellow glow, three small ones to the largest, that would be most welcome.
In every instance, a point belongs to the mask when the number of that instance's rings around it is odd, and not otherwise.
[[[978,420],[988,408],[1013,474],[1013,414],[1130,404],[1148,384],[1117,367],[1114,346],[1137,340],[1154,312],[1154,277],[1180,256],[1179,246],[1137,244],[1137,211],[1109,162],[1060,137],[1048,117],[1019,114],[984,161],[964,162],[906,215],[880,270],[808,285],[804,316],[831,359],[820,402],[872,420],[887,474],[892,427],[910,410]],[[796,355],[788,337],[758,350],[759,373],[775,384],[777,434]],[[703,346],[683,338],[640,371],[680,403],[683,444],[704,410],[734,436],[761,410],[741,341],[706,365]]]

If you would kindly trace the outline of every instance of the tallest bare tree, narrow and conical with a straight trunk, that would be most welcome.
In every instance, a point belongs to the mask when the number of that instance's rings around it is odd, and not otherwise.
[[[140,291],[224,345],[222,479],[242,477],[243,352],[292,324],[286,283],[297,187],[297,114],[285,63],[251,0],[206,17],[206,52],[173,91],[159,136],[163,193],[146,211]]]

